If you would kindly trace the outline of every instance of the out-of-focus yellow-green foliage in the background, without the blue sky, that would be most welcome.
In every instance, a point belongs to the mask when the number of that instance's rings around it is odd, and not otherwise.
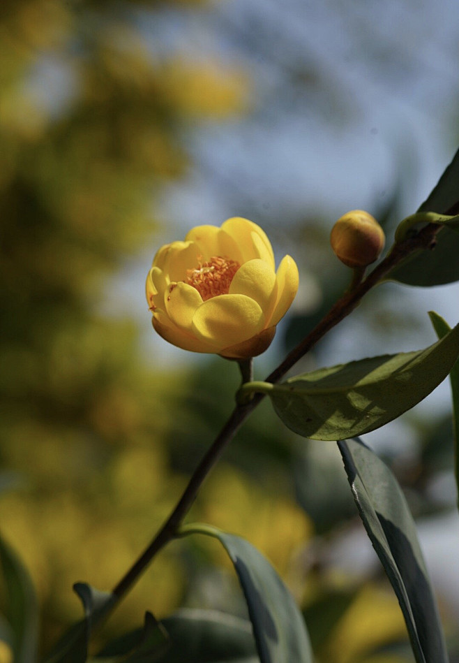
[[[139,13],[167,6],[189,10],[193,0],[0,4],[0,527],[36,587],[44,650],[80,617],[72,584],[110,589],[147,544],[238,381],[220,359],[153,370],[135,323],[100,313],[126,256],[148,243],[153,257],[158,194],[190,163],[184,129],[248,109],[246,73],[149,52]],[[299,313],[287,338],[304,334],[304,323]],[[337,452],[299,442],[268,404],[260,410],[191,516],[246,536],[306,613],[331,615],[312,623],[318,660],[364,660],[405,631],[379,578],[362,584],[324,562],[336,530],[354,518]],[[431,450],[427,440],[426,458]],[[324,538],[309,547],[315,534]],[[227,569],[208,543],[170,546],[107,628],[119,634],[146,609],[163,616],[197,602],[239,613]],[[2,663],[8,652],[0,642]]]

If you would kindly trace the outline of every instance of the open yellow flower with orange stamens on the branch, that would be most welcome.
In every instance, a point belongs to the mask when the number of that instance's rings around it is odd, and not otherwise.
[[[197,226],[153,260],[146,279],[153,327],[185,350],[257,356],[298,289],[290,256],[275,269],[269,239],[252,221],[233,217],[221,228]]]

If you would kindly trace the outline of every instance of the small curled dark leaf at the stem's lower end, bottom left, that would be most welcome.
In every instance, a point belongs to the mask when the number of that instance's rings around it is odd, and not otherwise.
[[[76,583],[73,589],[82,600],[84,619],[68,629],[44,663],[85,663],[93,627],[105,618],[116,602],[113,594],[100,592],[85,583]]]

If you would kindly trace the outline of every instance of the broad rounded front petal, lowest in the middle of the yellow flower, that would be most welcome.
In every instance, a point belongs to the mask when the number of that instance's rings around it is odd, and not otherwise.
[[[220,295],[206,300],[195,312],[193,330],[219,350],[241,343],[264,328],[259,305],[246,295]]]

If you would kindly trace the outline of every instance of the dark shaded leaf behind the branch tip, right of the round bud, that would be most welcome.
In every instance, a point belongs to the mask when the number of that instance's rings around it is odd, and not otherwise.
[[[459,150],[418,212],[459,212]],[[387,279],[412,286],[437,286],[459,280],[459,233],[443,228],[433,251],[414,252]]]

